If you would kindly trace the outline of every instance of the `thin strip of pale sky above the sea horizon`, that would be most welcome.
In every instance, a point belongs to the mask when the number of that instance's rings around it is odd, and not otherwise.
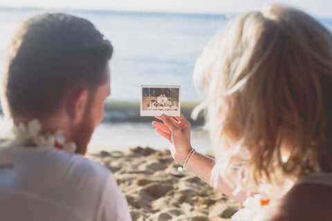
[[[0,0],[0,7],[76,8],[152,12],[239,13],[270,3],[286,3],[314,15],[332,17],[331,0]]]

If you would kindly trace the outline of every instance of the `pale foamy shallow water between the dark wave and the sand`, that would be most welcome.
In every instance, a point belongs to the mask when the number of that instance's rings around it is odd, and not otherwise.
[[[213,151],[208,131],[192,127],[191,142],[196,151]],[[156,128],[142,123],[105,123],[98,125],[91,137],[88,153],[100,151],[128,151],[136,146],[149,146],[156,150],[169,149],[169,142],[158,133]]]

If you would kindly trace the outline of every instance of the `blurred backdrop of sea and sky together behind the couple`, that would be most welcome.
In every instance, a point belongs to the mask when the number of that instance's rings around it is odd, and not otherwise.
[[[111,96],[105,102],[104,122],[96,128],[89,151],[133,146],[168,148],[168,142],[151,126],[153,117],[140,117],[140,85],[181,85],[181,110],[190,119],[192,109],[203,99],[192,84],[192,71],[205,44],[239,13],[259,10],[273,2],[1,0],[0,70],[10,37],[28,17],[66,12],[89,19],[114,47]],[[332,30],[332,1],[278,2],[308,12]],[[203,119],[190,122],[192,145],[199,151],[212,151],[209,135],[202,128]]]

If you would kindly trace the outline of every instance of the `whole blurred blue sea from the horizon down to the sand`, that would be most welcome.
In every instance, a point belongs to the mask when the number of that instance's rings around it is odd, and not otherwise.
[[[201,100],[192,84],[194,63],[208,40],[233,17],[0,8],[0,70],[10,37],[19,24],[30,16],[46,12],[66,12],[89,19],[114,47],[110,61],[111,97],[105,104],[104,122],[92,137],[92,151],[130,146],[167,148],[167,141],[150,125],[153,118],[139,116],[140,85],[181,85],[181,108],[189,117],[192,108]],[[319,20],[332,30],[332,19]],[[212,149],[208,133],[200,127],[194,128],[192,142],[203,151]]]

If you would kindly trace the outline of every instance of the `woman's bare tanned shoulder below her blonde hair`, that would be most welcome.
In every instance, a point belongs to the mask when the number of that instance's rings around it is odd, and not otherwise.
[[[331,220],[332,175],[302,177],[278,204],[266,213],[266,221]]]

